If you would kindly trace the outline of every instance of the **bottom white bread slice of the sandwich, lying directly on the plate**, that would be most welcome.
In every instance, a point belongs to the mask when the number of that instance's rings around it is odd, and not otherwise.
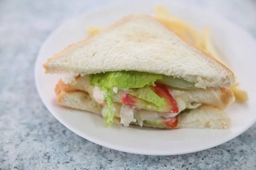
[[[102,116],[102,105],[99,105],[90,95],[83,91],[61,92],[57,96],[57,102],[70,108],[90,111]],[[231,126],[230,118],[221,109],[209,105],[202,105],[189,112],[180,113],[177,116],[177,128],[214,128],[228,129]],[[119,122],[117,122],[119,123]],[[137,122],[132,122],[138,125]],[[122,124],[121,124],[122,125]],[[143,127],[168,128],[143,123]]]

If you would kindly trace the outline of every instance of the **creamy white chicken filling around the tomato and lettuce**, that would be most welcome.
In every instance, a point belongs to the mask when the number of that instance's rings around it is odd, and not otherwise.
[[[123,105],[122,102],[120,102],[120,99],[122,97],[124,91],[118,88],[113,88],[113,110],[116,117],[121,118],[121,122],[124,126],[129,126],[131,122],[138,122],[140,126],[143,126],[144,120],[155,120],[160,118],[161,116],[165,118],[170,118],[177,116],[181,111],[185,110],[186,108],[189,109],[195,109],[198,108],[201,103],[189,103],[186,102],[184,99],[182,99],[183,95],[186,95],[183,91],[177,91],[172,90],[172,94],[177,102],[177,106],[179,108],[178,113],[165,113],[165,112],[157,112],[157,111],[150,111],[150,110],[144,110],[144,109],[138,109],[132,106]],[[101,91],[99,87],[95,86],[93,88],[93,97],[99,104],[105,104],[104,102],[104,91]],[[106,116],[106,107],[103,107],[102,109],[102,116]]]

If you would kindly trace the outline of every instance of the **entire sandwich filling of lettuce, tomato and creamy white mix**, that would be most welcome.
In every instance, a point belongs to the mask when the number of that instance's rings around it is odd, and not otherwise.
[[[110,126],[119,119],[124,126],[137,122],[177,127],[177,115],[201,103],[188,102],[183,89],[194,89],[195,83],[177,77],[139,71],[110,71],[90,74],[92,96],[105,105],[102,116]]]

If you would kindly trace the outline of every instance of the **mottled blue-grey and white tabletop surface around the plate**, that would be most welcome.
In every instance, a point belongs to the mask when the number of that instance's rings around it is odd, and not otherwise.
[[[256,170],[256,125],[198,153],[142,156],[89,142],[49,113],[34,80],[42,43],[64,20],[111,3],[117,0],[0,0],[0,170]],[[216,11],[256,37],[254,0],[179,3]]]

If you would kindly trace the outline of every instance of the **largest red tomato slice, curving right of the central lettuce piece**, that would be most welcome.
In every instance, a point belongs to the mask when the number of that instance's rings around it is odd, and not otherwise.
[[[159,112],[168,112],[168,113],[178,113],[179,108],[176,100],[172,96],[172,92],[166,85],[155,82],[156,86],[151,86],[152,91],[154,91],[161,98],[166,99],[166,105],[159,108],[157,111]]]

